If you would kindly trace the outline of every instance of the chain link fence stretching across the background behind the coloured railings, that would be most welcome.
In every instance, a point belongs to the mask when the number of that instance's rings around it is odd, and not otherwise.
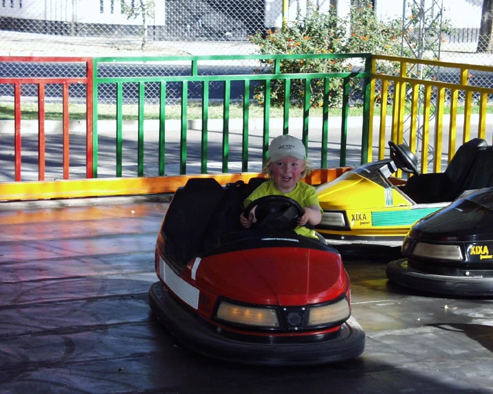
[[[312,3],[321,10],[329,7],[328,1]],[[403,30],[414,29],[416,41],[403,42],[403,46],[414,46],[416,57],[483,65],[493,63],[492,0],[402,0],[402,6],[391,0],[339,0],[336,3],[341,17],[347,17],[349,6],[371,4],[381,19],[401,18]],[[258,50],[248,41],[249,35],[279,27],[283,17],[292,20],[296,12],[303,12],[304,8],[306,1],[303,0],[0,0],[0,55],[248,55]],[[434,41],[433,51],[426,49],[425,41]],[[221,68],[221,72],[251,73],[258,66],[252,61],[221,63],[208,68],[208,72]],[[0,63],[1,77],[33,73],[59,77],[73,72],[79,71],[70,66]],[[179,63],[159,66],[129,63],[118,68],[107,66],[100,72],[114,77],[182,75],[187,70]],[[459,76],[449,73],[439,78],[452,82]],[[476,73],[470,76],[469,83],[491,86],[492,76]],[[125,104],[134,103],[136,89],[131,84],[125,86]],[[146,99],[158,97],[157,89],[156,84],[146,86]],[[212,97],[214,91],[221,89],[221,83],[212,83]],[[12,90],[13,86],[0,85],[1,101],[8,101]],[[34,90],[23,88],[23,97],[34,96]],[[57,86],[50,86],[47,100],[59,99],[59,90]],[[70,99],[81,99],[84,90],[83,86],[71,86]],[[190,88],[189,98],[200,99],[198,91]],[[102,95],[103,104],[110,104],[111,97]]]

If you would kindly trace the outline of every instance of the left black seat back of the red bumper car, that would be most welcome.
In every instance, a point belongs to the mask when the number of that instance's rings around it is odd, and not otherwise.
[[[223,193],[222,186],[212,178],[188,179],[177,190],[161,228],[167,259],[184,267],[203,251],[203,236]]]

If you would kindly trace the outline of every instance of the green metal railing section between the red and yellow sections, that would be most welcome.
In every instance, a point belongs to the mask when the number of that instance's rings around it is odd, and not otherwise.
[[[361,70],[357,72],[312,72],[305,74],[283,74],[281,73],[281,61],[284,59],[361,59]],[[249,75],[201,75],[201,63],[208,61],[262,61],[271,60],[273,65],[266,73],[252,73]],[[187,109],[189,104],[188,89],[190,83],[201,83],[201,102],[202,102],[202,135],[201,135],[201,173],[207,172],[208,166],[208,119],[210,95],[209,86],[212,82],[221,82],[224,84],[223,90],[223,138],[222,138],[222,171],[228,173],[228,160],[230,152],[229,130],[230,130],[230,100],[231,100],[231,83],[233,81],[243,81],[243,133],[241,141],[241,171],[248,171],[248,144],[249,144],[249,119],[250,119],[250,97],[252,93],[252,83],[260,81],[264,84],[264,95],[270,97],[271,83],[274,80],[282,80],[285,83],[284,97],[284,115],[283,115],[283,133],[287,134],[290,127],[290,83],[293,79],[302,79],[305,81],[305,95],[303,97],[303,143],[308,150],[308,126],[310,119],[310,82],[313,79],[323,79],[325,86],[325,95],[323,99],[323,126],[321,138],[321,162],[320,168],[326,168],[328,164],[328,92],[332,79],[343,79],[343,112],[341,124],[341,152],[340,165],[345,166],[346,161],[346,141],[348,133],[348,108],[350,104],[350,81],[352,79],[361,79],[363,86],[363,126],[361,130],[361,163],[368,158],[368,115],[370,111],[370,76],[371,76],[370,54],[321,54],[321,55],[237,55],[237,56],[190,56],[190,57],[99,57],[94,58],[94,103],[98,103],[98,91],[102,84],[116,85],[116,105],[117,105],[117,135],[116,135],[116,177],[122,175],[122,125],[123,125],[123,85],[125,83],[137,83],[139,86],[138,93],[138,149],[137,149],[137,175],[143,177],[144,169],[144,104],[145,104],[145,83],[159,83],[159,175],[165,175],[165,114],[166,114],[166,85],[167,83],[181,83],[181,130],[180,130],[180,154],[179,154],[179,173],[187,174]],[[166,63],[181,62],[190,67],[190,75],[158,75],[158,76],[130,76],[130,77],[99,77],[99,70],[103,65],[121,65],[124,63],[145,64],[145,63]],[[352,61],[354,63],[354,60]],[[262,157],[263,162],[267,158],[268,143],[270,136],[270,100],[265,100],[263,104],[263,138],[262,138]],[[94,104],[94,132],[93,132],[93,174],[97,178],[98,170],[98,106]]]

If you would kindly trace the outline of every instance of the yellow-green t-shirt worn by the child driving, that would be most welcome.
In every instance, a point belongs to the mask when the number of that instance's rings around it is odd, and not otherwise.
[[[296,184],[296,188],[294,188],[294,190],[290,193],[282,193],[276,188],[272,179],[263,182],[263,184],[256,188],[253,193],[245,199],[243,204],[246,208],[252,201],[259,199],[260,197],[270,195],[290,197],[294,199],[294,201],[297,201],[298,204],[301,205],[301,208],[306,208],[307,206],[312,205],[319,206],[320,208],[319,198],[316,197],[315,188],[313,186],[305,184],[305,182],[298,182]],[[323,213],[322,208],[320,208],[320,212]],[[304,237],[318,239],[315,231],[305,226],[298,226],[294,229],[294,231],[296,231],[296,234],[303,235]]]

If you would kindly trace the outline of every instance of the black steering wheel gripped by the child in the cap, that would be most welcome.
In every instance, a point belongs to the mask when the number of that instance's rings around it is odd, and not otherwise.
[[[281,230],[283,228],[296,228],[297,219],[303,215],[303,208],[297,201],[281,195],[260,197],[252,201],[245,208],[243,215],[248,217],[250,211],[255,208],[256,223],[254,228],[269,228]]]

